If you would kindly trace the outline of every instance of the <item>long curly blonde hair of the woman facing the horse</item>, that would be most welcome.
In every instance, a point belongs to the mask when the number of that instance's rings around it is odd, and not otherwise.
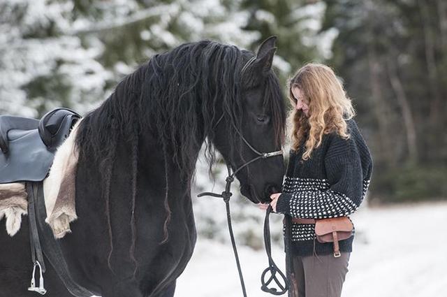
[[[305,103],[309,106],[309,117],[302,110],[295,108],[297,100],[292,93],[295,87],[300,89]],[[330,67],[323,64],[306,64],[289,80],[288,91],[288,98],[293,106],[288,117],[288,123],[291,124],[289,131],[292,133],[292,149],[298,150],[308,135],[302,159],[311,157],[312,150],[321,145],[324,134],[335,131],[342,138],[349,138],[346,119],[353,118],[356,112],[342,83]]]

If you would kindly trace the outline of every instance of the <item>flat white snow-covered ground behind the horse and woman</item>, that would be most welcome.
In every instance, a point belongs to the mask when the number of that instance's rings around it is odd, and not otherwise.
[[[351,218],[356,239],[342,297],[447,296],[447,203],[362,207]],[[270,296],[260,289],[265,252],[239,252],[248,296]],[[273,257],[284,268],[281,247]],[[231,245],[198,238],[175,296],[242,296]]]

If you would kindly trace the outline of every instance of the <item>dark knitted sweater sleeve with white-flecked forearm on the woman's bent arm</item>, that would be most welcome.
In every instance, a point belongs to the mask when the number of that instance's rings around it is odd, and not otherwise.
[[[304,219],[341,217],[356,211],[362,202],[365,182],[356,143],[351,139],[332,138],[324,157],[327,180],[325,189],[283,193],[278,198],[277,212]]]

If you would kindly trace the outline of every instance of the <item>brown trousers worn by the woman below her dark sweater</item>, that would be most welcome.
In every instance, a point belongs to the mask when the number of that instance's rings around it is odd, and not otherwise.
[[[292,297],[340,297],[350,252],[333,254],[295,256],[293,258]]]

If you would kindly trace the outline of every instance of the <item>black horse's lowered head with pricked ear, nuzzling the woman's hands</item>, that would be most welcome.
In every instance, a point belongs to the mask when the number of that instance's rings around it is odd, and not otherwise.
[[[242,195],[254,203],[270,201],[270,194],[281,190],[284,175],[282,154],[261,157],[246,165],[259,157],[258,152],[280,151],[284,140],[284,100],[271,70],[277,49],[275,41],[276,37],[268,38],[255,56],[244,53],[244,64],[237,70],[241,81],[240,115],[219,119],[213,141],[233,171],[237,171]]]

